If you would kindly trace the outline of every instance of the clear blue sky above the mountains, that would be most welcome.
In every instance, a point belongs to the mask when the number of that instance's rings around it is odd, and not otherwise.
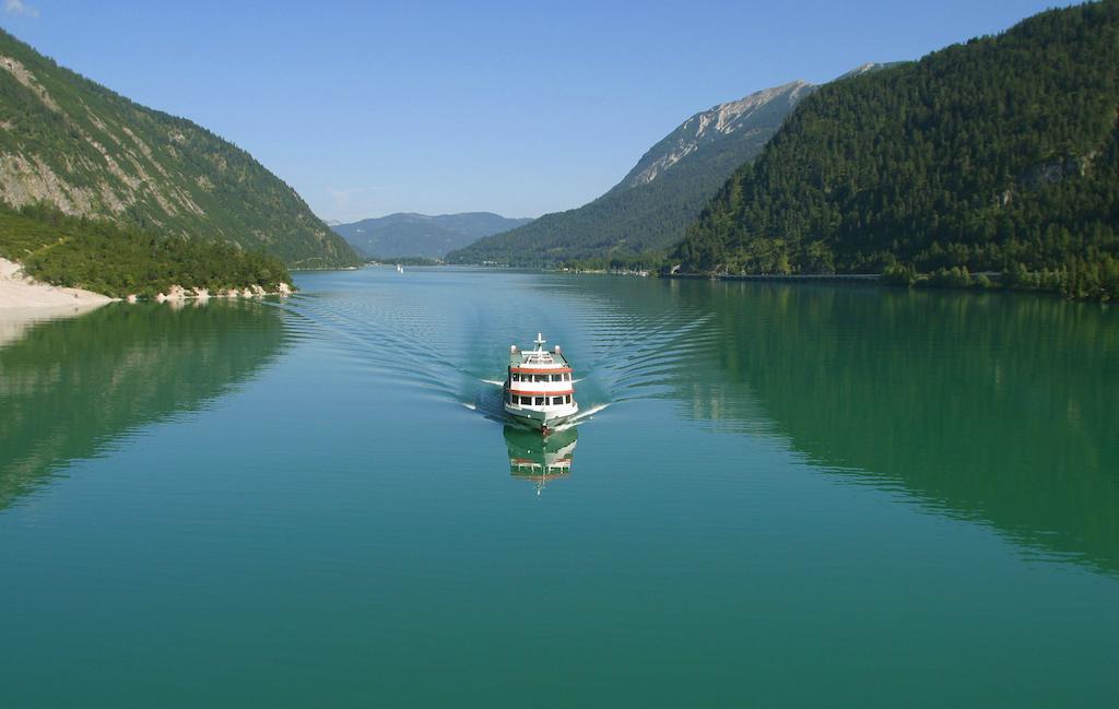
[[[0,0],[6,29],[248,150],[328,219],[537,216],[690,114],[1003,30],[1053,0]]]

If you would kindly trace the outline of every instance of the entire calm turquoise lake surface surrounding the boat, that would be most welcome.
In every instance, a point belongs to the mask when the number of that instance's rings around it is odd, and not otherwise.
[[[459,268],[299,285],[0,347],[0,706],[1119,692],[1113,308]],[[538,330],[593,412],[543,450],[489,384]]]

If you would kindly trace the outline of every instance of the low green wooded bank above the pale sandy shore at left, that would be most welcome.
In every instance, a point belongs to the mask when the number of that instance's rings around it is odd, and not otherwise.
[[[0,210],[0,256],[40,281],[115,297],[152,296],[172,285],[222,291],[291,284],[262,250],[191,237],[160,238],[110,221],[67,217],[45,206]]]

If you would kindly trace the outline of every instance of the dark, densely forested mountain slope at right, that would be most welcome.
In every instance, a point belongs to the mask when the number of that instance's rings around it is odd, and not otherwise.
[[[693,272],[1004,271],[1117,296],[1116,67],[1106,0],[825,86],[674,257]]]

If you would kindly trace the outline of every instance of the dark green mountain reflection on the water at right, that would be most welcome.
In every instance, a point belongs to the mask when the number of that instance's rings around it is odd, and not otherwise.
[[[718,347],[677,372],[692,417],[1119,571],[1115,309],[858,286],[665,291],[661,308],[714,314]]]

